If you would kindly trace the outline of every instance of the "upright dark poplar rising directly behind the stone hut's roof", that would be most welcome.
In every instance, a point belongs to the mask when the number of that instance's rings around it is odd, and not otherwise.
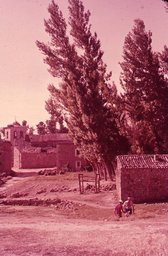
[[[168,152],[168,87],[160,71],[158,54],[152,52],[151,35],[142,20],[136,19],[125,38],[122,100],[130,117],[135,153]]]

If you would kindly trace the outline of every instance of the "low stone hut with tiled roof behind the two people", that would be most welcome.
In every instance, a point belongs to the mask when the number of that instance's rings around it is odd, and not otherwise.
[[[134,203],[168,198],[168,155],[117,156],[119,198]]]

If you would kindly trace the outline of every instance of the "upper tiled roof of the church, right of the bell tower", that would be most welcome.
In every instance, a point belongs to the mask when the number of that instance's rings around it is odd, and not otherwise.
[[[40,141],[72,141],[68,133],[47,133],[43,135],[33,134],[30,136],[30,142]]]

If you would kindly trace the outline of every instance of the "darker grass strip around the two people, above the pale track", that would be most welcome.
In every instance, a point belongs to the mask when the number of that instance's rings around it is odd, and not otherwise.
[[[93,207],[87,204],[81,204],[77,210],[69,210],[62,211],[59,209],[55,209],[53,207],[47,206],[3,206],[0,207],[0,213],[9,213],[9,214],[17,214],[20,216],[40,216],[41,214],[59,214],[72,219],[86,219],[93,221],[101,221],[107,219],[108,221],[120,221],[120,222],[130,222],[137,220],[145,220],[145,219],[161,219],[168,217],[168,212],[162,211],[162,209],[167,208],[168,204],[137,204],[135,209],[136,213],[128,218],[123,214],[122,218],[118,219],[114,215],[114,209],[104,209],[99,207]]]

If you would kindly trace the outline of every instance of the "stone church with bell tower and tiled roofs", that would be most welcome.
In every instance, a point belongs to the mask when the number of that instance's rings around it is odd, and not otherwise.
[[[68,133],[29,136],[27,127],[8,125],[5,141],[12,144],[12,166],[16,169],[57,167],[60,170],[68,163],[69,168],[80,170],[86,164]]]

